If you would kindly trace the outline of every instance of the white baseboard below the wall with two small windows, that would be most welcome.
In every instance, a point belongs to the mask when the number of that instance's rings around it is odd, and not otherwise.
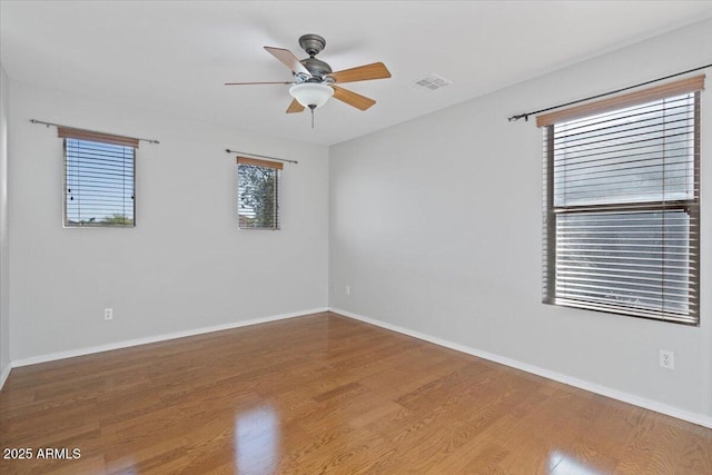
[[[246,327],[246,326],[249,326],[249,325],[257,325],[257,324],[265,324],[265,323],[268,323],[268,321],[284,320],[286,318],[301,317],[301,316],[305,316],[305,315],[318,314],[318,313],[327,311],[327,310],[328,310],[327,308],[313,308],[313,309],[309,309],[309,310],[293,311],[293,313],[289,313],[289,314],[273,315],[273,316],[263,317],[263,318],[254,318],[251,320],[235,321],[235,323],[229,323],[229,324],[224,324],[224,325],[215,325],[215,326],[210,326],[210,327],[195,328],[195,329],[185,330],[185,331],[176,331],[176,333],[170,333],[170,334],[149,336],[149,337],[145,337],[145,338],[136,338],[136,339],[130,339],[130,340],[125,340],[125,342],[110,343],[110,344],[107,344],[107,345],[92,346],[92,347],[89,347],[89,348],[79,348],[79,349],[70,349],[70,350],[67,350],[67,352],[50,353],[50,354],[47,354],[47,355],[32,356],[32,357],[22,358],[22,359],[14,359],[14,360],[12,360],[11,366],[13,368],[17,368],[17,367],[20,367],[20,366],[37,365],[37,364],[40,364],[40,363],[55,362],[57,359],[73,358],[75,356],[91,355],[91,354],[95,354],[95,353],[110,352],[112,349],[129,348],[131,346],[146,345],[146,344],[149,344],[149,343],[166,342],[168,339],[185,338],[187,336],[202,335],[202,334],[206,334],[206,333],[227,330],[227,329],[230,329],[230,328]],[[7,373],[10,374],[10,368],[8,368]],[[6,377],[7,377],[7,375],[6,375]],[[4,379],[2,379],[2,383],[4,383]]]

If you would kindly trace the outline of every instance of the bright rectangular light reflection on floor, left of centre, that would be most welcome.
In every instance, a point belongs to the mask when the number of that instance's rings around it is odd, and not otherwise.
[[[279,419],[270,406],[237,415],[235,466],[239,474],[274,473],[279,459]]]

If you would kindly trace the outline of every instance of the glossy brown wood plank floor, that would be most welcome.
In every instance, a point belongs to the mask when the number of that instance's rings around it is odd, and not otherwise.
[[[712,474],[712,429],[335,314],[16,368],[0,446],[32,451],[8,475]]]

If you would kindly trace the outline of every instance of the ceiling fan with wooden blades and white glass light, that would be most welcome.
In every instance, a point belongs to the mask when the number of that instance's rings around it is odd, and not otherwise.
[[[312,110],[312,127],[314,127],[314,109],[324,106],[332,96],[360,110],[366,110],[376,103],[370,98],[336,86],[337,83],[390,77],[390,72],[383,62],[333,72],[329,65],[315,58],[326,47],[326,40],[318,34],[301,36],[299,46],[309,55],[308,58],[299,60],[287,49],[265,47],[269,53],[291,70],[294,81],[226,82],[225,86],[291,85],[289,95],[294,100],[287,108],[287,113],[301,112],[305,108],[309,108]]]

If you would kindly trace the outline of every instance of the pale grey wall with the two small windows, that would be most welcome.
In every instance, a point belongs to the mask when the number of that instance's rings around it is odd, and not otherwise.
[[[12,360],[326,307],[326,147],[13,80],[10,95]],[[137,154],[136,228],[62,228],[62,141],[31,118],[160,140]],[[237,228],[228,147],[299,161],[281,230]]]

